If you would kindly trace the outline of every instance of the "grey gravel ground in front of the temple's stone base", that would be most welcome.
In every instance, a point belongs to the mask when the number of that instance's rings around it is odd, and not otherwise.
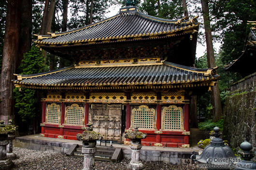
[[[17,159],[12,170],[82,170],[83,159],[66,157],[57,152],[35,151],[14,147]],[[93,170],[127,170],[129,159],[120,162],[95,161]],[[163,162],[142,162],[144,170],[198,170],[195,165],[172,165]]]

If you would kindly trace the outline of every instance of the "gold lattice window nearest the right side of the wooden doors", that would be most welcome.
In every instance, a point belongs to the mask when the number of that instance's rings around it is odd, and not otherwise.
[[[156,129],[156,110],[149,109],[146,105],[140,105],[138,109],[132,109],[131,128],[134,126],[140,129]]]

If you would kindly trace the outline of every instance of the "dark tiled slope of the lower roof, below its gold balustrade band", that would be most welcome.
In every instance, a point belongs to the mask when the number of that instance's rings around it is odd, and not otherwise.
[[[34,75],[16,75],[15,84],[26,86],[154,85],[216,80],[216,68],[198,69],[169,62],[155,64],[71,66]]]

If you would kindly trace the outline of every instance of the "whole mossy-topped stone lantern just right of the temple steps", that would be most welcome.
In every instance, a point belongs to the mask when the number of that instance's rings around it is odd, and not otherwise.
[[[146,133],[142,133],[138,131],[138,127],[134,127],[134,131],[127,130],[125,134],[125,138],[130,139],[130,148],[131,148],[131,161],[128,164],[128,169],[132,170],[141,170],[143,169],[144,165],[140,160],[141,148],[142,148],[142,139],[147,137]]]

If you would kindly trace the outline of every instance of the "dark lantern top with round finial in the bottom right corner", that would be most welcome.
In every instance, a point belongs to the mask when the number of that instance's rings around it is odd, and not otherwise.
[[[254,152],[251,151],[253,148],[252,144],[244,140],[242,144],[240,144],[240,148],[242,150],[238,151],[241,155],[241,161],[239,161],[236,165],[235,170],[256,170],[256,163],[251,159],[254,157]]]

